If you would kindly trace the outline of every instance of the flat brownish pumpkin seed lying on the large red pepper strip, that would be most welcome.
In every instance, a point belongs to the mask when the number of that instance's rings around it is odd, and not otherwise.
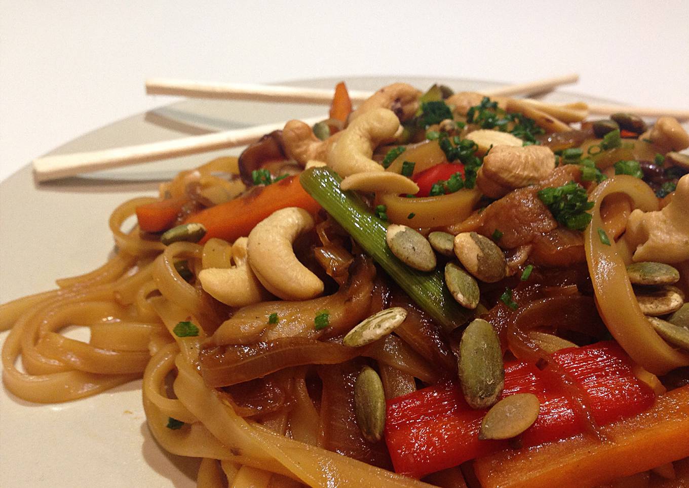
[[[522,434],[538,418],[540,403],[531,393],[506,396],[481,421],[480,439],[510,439]]]

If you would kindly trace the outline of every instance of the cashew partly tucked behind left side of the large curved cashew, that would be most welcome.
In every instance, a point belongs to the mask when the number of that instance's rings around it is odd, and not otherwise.
[[[257,304],[271,295],[247,265],[247,238],[240,237],[232,245],[234,268],[205,268],[198,273],[201,287],[214,299],[233,307]]]

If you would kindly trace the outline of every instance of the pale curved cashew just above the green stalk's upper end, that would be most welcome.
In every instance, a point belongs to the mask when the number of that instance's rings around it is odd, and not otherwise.
[[[328,151],[328,166],[349,176],[364,171],[383,171],[371,159],[373,150],[381,142],[393,140],[402,129],[400,120],[389,109],[373,109],[354,120]]]

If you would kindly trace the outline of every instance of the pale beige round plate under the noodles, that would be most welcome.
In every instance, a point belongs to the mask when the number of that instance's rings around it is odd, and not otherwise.
[[[333,87],[340,79],[295,81]],[[348,78],[351,89],[378,89],[400,78]],[[424,89],[432,83],[456,91],[495,84],[406,78]],[[599,101],[571,94],[548,100]],[[103,100],[107,103],[107,100]],[[76,108],[78,109],[78,108]],[[70,153],[177,138],[188,134],[325,114],[316,105],[184,100],[97,129],[52,151]],[[35,184],[30,167],[0,184],[0,303],[54,288],[54,280],[88,272],[112,252],[107,217],[137,195],[154,195],[159,181],[202,164],[216,151],[135,167]],[[0,335],[4,341],[8,332]],[[141,381],[59,405],[36,405],[0,392],[0,485],[5,487],[193,487],[198,463],[163,451],[148,431]]]

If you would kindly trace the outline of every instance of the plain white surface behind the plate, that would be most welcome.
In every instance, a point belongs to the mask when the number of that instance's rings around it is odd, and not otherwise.
[[[145,79],[159,76],[518,82],[577,72],[566,91],[689,108],[686,1],[378,5],[0,0],[0,180],[80,134],[169,103],[144,94]]]

